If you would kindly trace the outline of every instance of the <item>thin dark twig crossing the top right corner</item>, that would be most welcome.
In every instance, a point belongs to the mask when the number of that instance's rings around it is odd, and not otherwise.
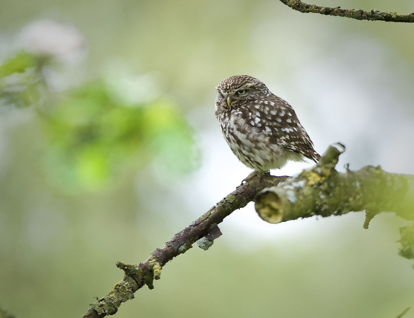
[[[335,17],[346,17],[356,20],[369,21],[386,21],[386,22],[414,22],[414,13],[398,14],[393,12],[382,12],[378,10],[371,10],[369,12],[363,10],[344,10],[340,7],[319,7],[318,5],[308,5],[300,0],[280,0],[283,4],[291,7],[293,10],[302,13],[319,13],[324,15],[332,15]]]

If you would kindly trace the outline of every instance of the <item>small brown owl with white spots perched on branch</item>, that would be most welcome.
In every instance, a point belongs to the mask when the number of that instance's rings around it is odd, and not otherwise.
[[[216,87],[215,115],[231,151],[253,174],[283,167],[288,160],[318,162],[305,129],[285,100],[248,75],[223,79]]]

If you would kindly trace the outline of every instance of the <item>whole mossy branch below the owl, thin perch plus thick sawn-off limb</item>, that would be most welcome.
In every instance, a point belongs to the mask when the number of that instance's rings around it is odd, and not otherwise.
[[[330,146],[319,163],[303,170],[297,177],[263,175],[249,179],[223,198],[190,226],[174,235],[161,248],[156,249],[139,265],[117,262],[125,273],[111,292],[91,304],[83,318],[113,315],[119,306],[134,298],[134,293],[147,285],[154,288],[153,280],[161,275],[161,268],[175,256],[185,253],[197,241],[202,249],[208,249],[213,240],[221,235],[217,224],[234,210],[255,201],[260,217],[270,223],[284,222],[312,215],[327,217],[349,211],[366,210],[366,222],[376,214],[394,211],[407,220],[413,220],[414,176],[397,175],[380,167],[366,166],[359,171],[335,170],[344,146]],[[414,258],[414,227],[400,229],[400,255]]]

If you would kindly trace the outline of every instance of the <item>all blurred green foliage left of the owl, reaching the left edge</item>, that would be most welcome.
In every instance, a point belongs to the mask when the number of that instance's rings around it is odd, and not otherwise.
[[[0,96],[3,106],[37,110],[50,141],[44,167],[53,184],[71,193],[99,190],[154,157],[173,175],[197,167],[193,131],[177,105],[162,97],[128,103],[101,79],[51,93],[42,74],[47,63],[25,52],[5,60]]]

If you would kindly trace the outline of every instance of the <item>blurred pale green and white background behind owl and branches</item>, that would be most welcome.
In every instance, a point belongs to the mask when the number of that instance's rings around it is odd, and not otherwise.
[[[318,5],[414,11],[413,0]],[[0,306],[81,317],[248,175],[214,87],[249,74],[351,169],[414,173],[412,24],[301,14],[277,0],[0,0]],[[291,163],[292,175],[311,163]],[[270,225],[253,205],[168,263],[116,317],[396,317],[414,306],[392,213]],[[414,310],[406,316],[414,317]]]

